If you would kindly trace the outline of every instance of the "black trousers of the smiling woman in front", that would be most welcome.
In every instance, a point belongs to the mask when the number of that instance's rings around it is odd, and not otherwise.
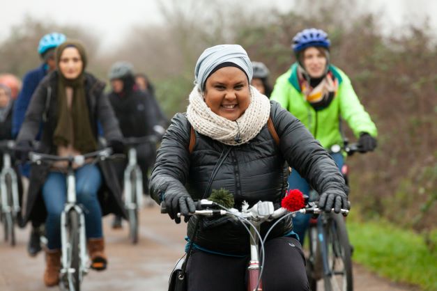
[[[264,291],[309,290],[305,256],[297,239],[277,237],[265,244]],[[187,263],[188,291],[246,291],[250,257],[193,251]]]

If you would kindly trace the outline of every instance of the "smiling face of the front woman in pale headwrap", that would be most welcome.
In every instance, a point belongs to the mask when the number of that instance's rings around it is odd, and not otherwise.
[[[206,79],[204,100],[218,116],[237,120],[250,104],[249,81],[245,72],[224,67]]]

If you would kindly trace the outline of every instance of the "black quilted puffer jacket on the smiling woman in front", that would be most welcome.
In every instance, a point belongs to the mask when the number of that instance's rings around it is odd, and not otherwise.
[[[277,102],[271,101],[270,104],[270,117],[279,136],[279,146],[266,125],[248,143],[232,147],[211,189],[229,190],[234,194],[235,207],[238,208],[243,200],[250,205],[259,200],[270,200],[279,207],[287,188],[288,162],[320,193],[332,188],[346,192],[344,179],[328,152],[300,120]],[[199,133],[196,133],[196,145],[191,154],[189,143],[190,123],[185,114],[178,113],[164,135],[149,183],[150,193],[158,202],[160,192],[185,192],[185,186],[194,199],[201,198],[217,159],[228,147]],[[188,223],[188,237],[192,235],[194,220],[192,217]],[[227,219],[220,223],[202,223],[201,226],[194,239],[199,246],[222,253],[247,254],[249,236],[239,222]],[[266,228],[268,224],[264,223],[261,233]],[[291,219],[285,220],[269,237],[285,235],[292,228]]]

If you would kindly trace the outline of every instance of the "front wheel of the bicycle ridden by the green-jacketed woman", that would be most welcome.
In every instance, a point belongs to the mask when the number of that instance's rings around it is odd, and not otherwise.
[[[329,272],[325,291],[353,291],[351,245],[342,214],[332,214],[325,228]]]

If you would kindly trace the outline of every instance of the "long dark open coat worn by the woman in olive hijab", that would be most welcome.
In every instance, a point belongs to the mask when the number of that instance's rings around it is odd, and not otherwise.
[[[57,89],[58,72],[47,75],[36,88],[31,98],[31,103],[26,111],[24,123],[17,136],[17,142],[33,141],[43,121],[43,134],[37,151],[49,154],[56,154],[56,146],[53,144],[53,134],[57,124]],[[121,141],[123,136],[118,127],[118,121],[109,101],[103,94],[105,84],[95,79],[91,74],[85,74],[86,102],[89,109],[89,120],[93,133],[97,139],[98,121],[102,125],[105,139],[107,141]],[[121,200],[121,187],[118,184],[116,173],[111,162],[100,162],[100,171],[104,187],[99,191],[99,201],[102,206],[102,213],[114,212],[124,216],[123,202]],[[46,210],[40,195],[41,187],[49,172],[47,164],[33,165],[29,184],[27,203],[24,205],[23,224],[29,220],[45,221]]]

